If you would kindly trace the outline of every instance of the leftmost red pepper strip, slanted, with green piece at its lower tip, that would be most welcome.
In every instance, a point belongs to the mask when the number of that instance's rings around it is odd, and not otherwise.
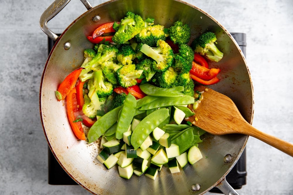
[[[67,77],[59,84],[55,92],[58,101],[64,100],[70,91],[75,87],[76,81],[84,68],[78,68],[72,71]]]

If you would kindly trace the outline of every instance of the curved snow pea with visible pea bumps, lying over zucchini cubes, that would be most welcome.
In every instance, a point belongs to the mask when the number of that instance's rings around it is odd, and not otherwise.
[[[161,122],[166,120],[169,116],[167,108],[158,109],[147,115],[133,130],[130,142],[134,149],[138,149],[144,142],[147,136],[160,125]]]

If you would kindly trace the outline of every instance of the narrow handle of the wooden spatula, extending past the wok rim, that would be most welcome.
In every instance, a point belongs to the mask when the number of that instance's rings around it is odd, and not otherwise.
[[[249,125],[251,130],[247,131],[246,134],[252,137],[255,137],[256,139],[259,139],[270,146],[275,147],[276,149],[290,155],[293,157],[293,144],[284,141],[282,139],[279,139],[277,137],[274,137],[272,135],[266,134],[264,132],[261,132],[251,125]]]

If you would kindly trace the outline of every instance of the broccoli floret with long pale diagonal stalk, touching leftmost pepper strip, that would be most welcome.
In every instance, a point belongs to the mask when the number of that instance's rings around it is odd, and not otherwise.
[[[118,49],[115,46],[98,44],[97,54],[94,56],[91,61],[81,66],[84,70],[81,71],[79,79],[84,82],[85,78],[88,78],[88,73],[92,70],[97,69],[101,63],[105,61],[113,61],[117,57]]]

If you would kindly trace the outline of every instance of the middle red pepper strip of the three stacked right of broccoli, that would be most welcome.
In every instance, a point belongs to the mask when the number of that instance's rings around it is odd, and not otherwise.
[[[199,77],[202,80],[211,80],[212,78],[216,77],[221,70],[219,68],[205,68],[199,64],[197,64],[195,61],[192,62],[192,68],[190,70],[190,73]]]

